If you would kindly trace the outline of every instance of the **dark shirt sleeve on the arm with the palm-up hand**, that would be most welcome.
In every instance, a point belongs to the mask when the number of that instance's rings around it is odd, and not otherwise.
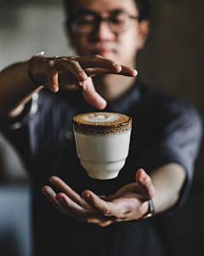
[[[184,167],[186,179],[177,205],[183,205],[194,177],[195,160],[201,148],[202,119],[200,113],[187,103],[173,103],[151,119],[150,136],[155,137],[141,153],[140,166],[151,172],[160,166],[177,163]],[[160,120],[160,121],[159,121]]]

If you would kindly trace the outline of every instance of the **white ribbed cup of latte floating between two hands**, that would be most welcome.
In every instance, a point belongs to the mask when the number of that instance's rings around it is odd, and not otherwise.
[[[73,118],[77,155],[89,177],[111,179],[125,164],[132,119],[122,113],[81,113]]]

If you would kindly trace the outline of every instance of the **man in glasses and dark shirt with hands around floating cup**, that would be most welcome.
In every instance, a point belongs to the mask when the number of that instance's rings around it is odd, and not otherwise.
[[[2,131],[32,178],[35,254],[173,255],[171,210],[190,189],[199,114],[135,78],[149,33],[146,1],[65,3],[67,33],[80,56],[37,55],[0,76]],[[88,177],[72,135],[72,117],[96,108],[133,118],[126,165],[107,181]],[[153,206],[155,216],[144,219]]]

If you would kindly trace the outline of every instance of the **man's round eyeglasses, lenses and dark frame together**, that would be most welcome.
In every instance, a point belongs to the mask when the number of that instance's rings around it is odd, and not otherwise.
[[[130,20],[139,20],[126,12],[116,12],[109,17],[103,18],[94,13],[84,13],[71,19],[71,30],[78,34],[88,35],[97,32],[101,21],[106,21],[112,32],[120,33],[127,30]]]

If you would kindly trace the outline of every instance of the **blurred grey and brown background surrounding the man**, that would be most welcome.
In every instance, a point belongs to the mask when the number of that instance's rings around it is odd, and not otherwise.
[[[99,1],[99,0],[96,0]],[[124,0],[125,1],[125,0]],[[191,102],[204,117],[204,1],[150,0],[151,32],[139,52],[140,79]],[[44,50],[73,55],[60,0],[0,0],[0,70]],[[203,255],[204,148],[190,196],[176,214],[179,255]],[[20,156],[0,133],[0,255],[31,256],[30,183]]]

